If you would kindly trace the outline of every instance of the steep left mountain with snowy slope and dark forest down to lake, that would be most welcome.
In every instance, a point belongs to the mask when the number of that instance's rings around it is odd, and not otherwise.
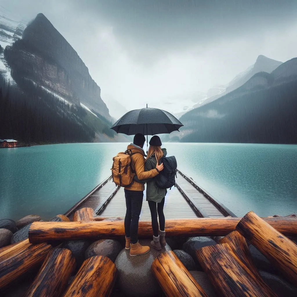
[[[109,129],[113,119],[100,87],[43,14],[26,28],[24,21],[0,16],[2,138],[33,143],[128,140]]]

